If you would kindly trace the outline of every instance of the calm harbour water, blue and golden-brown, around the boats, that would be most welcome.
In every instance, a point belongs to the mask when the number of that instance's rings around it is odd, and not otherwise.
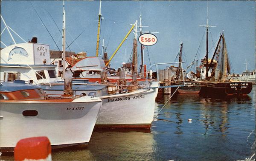
[[[157,96],[156,114],[169,97]],[[52,159],[242,160],[254,153],[254,141],[255,85],[248,96],[179,95],[163,108],[151,130],[94,131],[86,149],[53,152]]]

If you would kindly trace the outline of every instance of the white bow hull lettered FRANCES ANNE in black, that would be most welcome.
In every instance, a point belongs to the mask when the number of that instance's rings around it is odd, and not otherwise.
[[[154,117],[155,96],[155,89],[101,96],[102,108],[96,127],[150,128]]]

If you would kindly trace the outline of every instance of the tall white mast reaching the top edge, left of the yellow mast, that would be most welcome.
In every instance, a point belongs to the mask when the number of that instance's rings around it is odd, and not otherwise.
[[[62,15],[62,74],[63,77],[66,71],[66,51],[65,51],[65,42],[66,42],[66,13],[65,13],[65,4],[63,0],[63,15]]]

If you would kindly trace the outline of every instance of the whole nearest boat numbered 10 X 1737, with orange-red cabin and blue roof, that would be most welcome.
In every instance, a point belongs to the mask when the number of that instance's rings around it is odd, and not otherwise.
[[[47,136],[52,148],[86,146],[102,105],[94,96],[49,96],[26,81],[0,84],[0,147],[12,151],[22,138]]]

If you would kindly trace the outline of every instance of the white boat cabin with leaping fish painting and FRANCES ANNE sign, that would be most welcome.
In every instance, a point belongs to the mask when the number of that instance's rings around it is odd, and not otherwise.
[[[50,62],[49,45],[20,43],[1,50],[1,81],[22,79],[33,84],[58,80],[56,65]]]

